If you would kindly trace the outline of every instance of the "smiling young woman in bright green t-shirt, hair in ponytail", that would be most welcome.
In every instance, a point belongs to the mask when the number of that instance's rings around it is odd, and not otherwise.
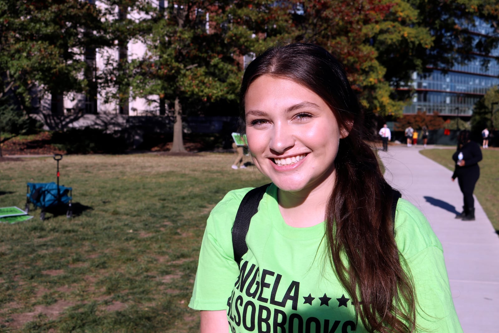
[[[210,214],[189,305],[202,310],[202,333],[462,332],[441,244],[406,200],[393,221],[392,188],[329,52],[307,43],[265,51],[245,72],[241,115],[272,183],[241,262],[231,229],[250,189]]]

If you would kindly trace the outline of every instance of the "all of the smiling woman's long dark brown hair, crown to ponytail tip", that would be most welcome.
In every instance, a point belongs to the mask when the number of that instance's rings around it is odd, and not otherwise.
[[[349,135],[340,140],[336,180],[326,208],[326,236],[333,270],[369,332],[412,332],[416,301],[410,274],[395,243],[392,188],[366,143],[363,112],[341,63],[320,46],[295,43],[267,49],[250,63],[244,99],[261,75],[290,79],[319,95]],[[346,255],[348,262],[342,261]]]

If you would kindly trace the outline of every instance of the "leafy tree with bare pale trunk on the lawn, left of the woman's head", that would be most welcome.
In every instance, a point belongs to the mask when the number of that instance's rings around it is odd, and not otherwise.
[[[237,101],[242,57],[270,45],[288,13],[267,0],[169,1],[150,13],[148,52],[130,62],[130,85],[133,97],[159,96],[149,102],[172,116],[171,151],[185,151],[182,119],[189,110]]]

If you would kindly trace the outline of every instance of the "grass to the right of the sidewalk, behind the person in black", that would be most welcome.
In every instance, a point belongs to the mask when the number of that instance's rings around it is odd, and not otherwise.
[[[449,170],[454,171],[452,154],[455,149],[425,149],[420,152],[432,160],[442,164]],[[491,220],[496,231],[499,231],[499,150],[483,149],[483,160],[480,165],[480,179],[475,187],[474,194],[480,201],[480,205]]]

